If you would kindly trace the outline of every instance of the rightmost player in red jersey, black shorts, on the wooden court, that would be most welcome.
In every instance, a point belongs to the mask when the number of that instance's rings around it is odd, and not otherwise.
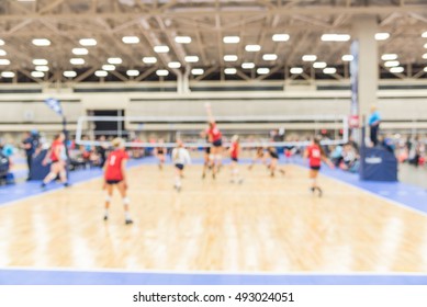
[[[312,186],[310,189],[313,193],[317,191],[318,196],[321,197],[323,192],[317,184],[317,175],[322,167],[322,161],[327,163],[330,168],[334,168],[334,164],[326,157],[319,140],[316,138],[313,138],[312,144],[305,149],[304,157],[308,158],[310,163],[310,179],[312,181]]]

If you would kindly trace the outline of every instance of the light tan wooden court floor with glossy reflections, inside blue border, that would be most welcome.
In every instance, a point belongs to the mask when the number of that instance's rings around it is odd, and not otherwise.
[[[214,181],[201,166],[130,169],[124,225],[115,194],[102,220],[101,179],[0,207],[0,266],[155,270],[170,272],[427,272],[427,216],[337,180],[321,177],[324,196],[308,192],[307,170],[240,166],[241,185],[224,167]]]

